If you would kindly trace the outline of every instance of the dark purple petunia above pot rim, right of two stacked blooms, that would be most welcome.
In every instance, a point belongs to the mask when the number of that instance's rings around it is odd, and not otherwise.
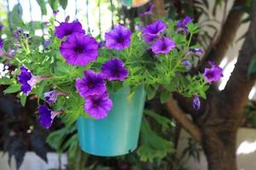
[[[123,82],[129,73],[125,69],[124,63],[121,59],[109,59],[102,65],[102,73],[108,81],[119,80]]]

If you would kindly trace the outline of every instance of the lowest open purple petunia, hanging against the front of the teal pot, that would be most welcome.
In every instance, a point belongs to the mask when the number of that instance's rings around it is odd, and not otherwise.
[[[103,119],[108,116],[113,102],[109,99],[109,94],[106,92],[99,95],[90,95],[85,98],[84,110],[95,119]]]

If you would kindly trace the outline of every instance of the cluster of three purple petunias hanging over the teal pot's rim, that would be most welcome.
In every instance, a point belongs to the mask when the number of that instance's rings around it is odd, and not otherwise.
[[[84,71],[84,77],[76,80],[76,88],[85,100],[84,110],[95,119],[103,119],[113,106],[107,92],[108,81],[124,81],[128,77],[123,61],[109,59],[102,65],[102,72]]]

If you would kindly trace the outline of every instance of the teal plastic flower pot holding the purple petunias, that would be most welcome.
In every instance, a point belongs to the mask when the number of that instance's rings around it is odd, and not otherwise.
[[[105,119],[79,117],[79,145],[84,152],[95,156],[121,156],[137,148],[145,91],[139,87],[132,98],[127,99],[129,94],[129,87],[109,94],[113,108]]]

